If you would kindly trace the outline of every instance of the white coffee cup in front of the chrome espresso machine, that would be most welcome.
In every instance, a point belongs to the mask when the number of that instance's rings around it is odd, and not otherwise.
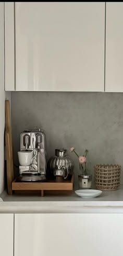
[[[36,155],[37,150],[35,149],[33,149],[32,151],[18,151],[18,159],[20,165],[30,165],[32,163],[32,160],[36,157]]]

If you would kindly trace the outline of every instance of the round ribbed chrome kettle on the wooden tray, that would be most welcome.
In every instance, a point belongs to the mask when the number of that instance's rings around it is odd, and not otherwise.
[[[66,149],[56,149],[55,156],[48,161],[48,174],[51,179],[55,176],[62,176],[64,179],[71,179],[74,164],[68,157]]]

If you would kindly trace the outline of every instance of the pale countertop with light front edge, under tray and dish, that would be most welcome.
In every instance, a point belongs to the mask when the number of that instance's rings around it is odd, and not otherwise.
[[[84,199],[71,195],[1,194],[0,213],[123,213],[123,185],[117,191],[105,191],[101,196]]]

